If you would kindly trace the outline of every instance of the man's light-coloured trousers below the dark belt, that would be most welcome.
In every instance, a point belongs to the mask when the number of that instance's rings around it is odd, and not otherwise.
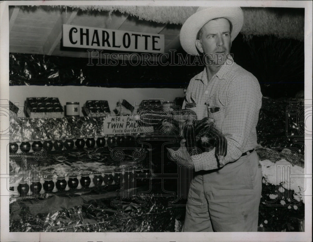
[[[222,169],[195,174],[184,232],[256,232],[262,170],[255,151]]]

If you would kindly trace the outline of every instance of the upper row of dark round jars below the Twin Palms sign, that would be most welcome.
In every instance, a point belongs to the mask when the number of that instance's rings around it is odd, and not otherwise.
[[[22,140],[21,144],[18,145],[18,140],[10,142],[9,144],[9,152],[12,154],[14,151],[17,151],[18,148],[23,151],[24,153],[28,153],[31,149],[38,150],[38,149],[45,149],[47,152],[50,152],[53,148],[54,150],[60,151],[63,149],[63,147],[66,150],[72,150],[74,149],[74,145],[77,149],[83,149],[85,145],[87,148],[91,149],[95,147],[95,144],[97,144],[97,147],[104,147],[105,144],[109,147],[114,146],[127,146],[130,145],[133,147],[135,138],[131,135],[123,135],[123,136],[98,136],[95,140],[94,137],[87,137],[85,140],[82,137],[76,138],[75,142],[74,139],[54,139],[54,143],[52,143],[51,139],[45,139],[44,142],[40,139],[33,140],[33,143],[30,144],[28,140]]]

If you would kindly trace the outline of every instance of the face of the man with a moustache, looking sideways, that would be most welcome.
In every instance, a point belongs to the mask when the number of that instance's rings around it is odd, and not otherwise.
[[[222,65],[230,51],[230,24],[225,18],[209,21],[202,27],[202,36],[196,40],[198,50],[206,56],[206,63]]]

